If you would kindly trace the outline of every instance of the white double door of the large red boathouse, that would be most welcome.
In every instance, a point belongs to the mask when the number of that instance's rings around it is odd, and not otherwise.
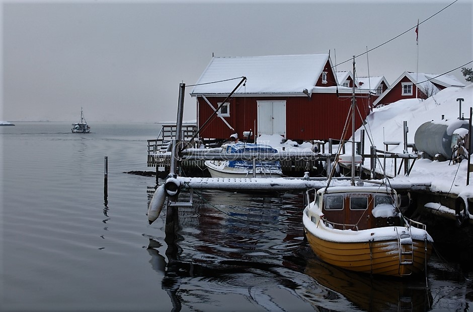
[[[286,137],[286,101],[258,101],[258,136]]]

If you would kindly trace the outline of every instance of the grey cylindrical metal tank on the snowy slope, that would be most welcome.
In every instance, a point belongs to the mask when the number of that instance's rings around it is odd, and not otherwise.
[[[425,152],[431,157],[440,154],[446,159],[451,159],[453,132],[459,128],[468,129],[468,120],[440,122],[427,121],[421,124],[414,135],[414,144],[419,152]]]

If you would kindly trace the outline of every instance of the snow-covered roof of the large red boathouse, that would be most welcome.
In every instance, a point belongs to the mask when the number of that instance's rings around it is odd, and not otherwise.
[[[190,94],[229,94],[240,78],[246,77],[245,86],[235,91],[236,95],[300,95],[316,85],[327,61],[331,62],[329,54],[214,56]],[[238,79],[211,83],[232,78]]]

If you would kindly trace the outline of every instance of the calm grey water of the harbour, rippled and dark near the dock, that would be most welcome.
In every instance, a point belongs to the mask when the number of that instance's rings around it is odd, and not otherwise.
[[[370,278],[314,258],[300,194],[207,191],[180,208],[177,244],[165,218],[148,225],[154,177],[146,139],[158,124],[18,122],[0,127],[0,310],[473,310],[473,285],[434,255],[424,276]],[[104,157],[108,156],[108,204]]]

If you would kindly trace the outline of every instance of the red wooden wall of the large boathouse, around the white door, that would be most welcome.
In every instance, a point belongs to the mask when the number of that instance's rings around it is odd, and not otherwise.
[[[340,140],[343,126],[351,105],[350,94],[337,98],[335,93],[313,93],[310,98],[304,97],[234,97],[230,102],[230,117],[225,120],[235,129],[240,138],[243,132],[250,129],[255,132],[257,121],[257,101],[285,100],[286,101],[286,139],[290,140]],[[223,97],[206,97],[217,107]],[[198,126],[200,127],[212,114],[213,110],[201,97],[198,101]],[[357,106],[363,119],[368,115],[367,98],[357,98]],[[350,118],[351,122],[351,118]],[[355,129],[361,127],[362,119],[358,112],[355,114]],[[216,115],[201,131],[200,137],[212,139],[228,139],[233,132]],[[351,136],[351,123],[346,138]]]

